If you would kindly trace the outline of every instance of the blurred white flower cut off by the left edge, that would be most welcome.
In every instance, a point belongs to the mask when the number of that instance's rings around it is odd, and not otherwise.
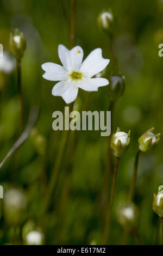
[[[10,74],[16,65],[15,58],[9,52],[3,52],[3,57],[0,57],[0,72]]]

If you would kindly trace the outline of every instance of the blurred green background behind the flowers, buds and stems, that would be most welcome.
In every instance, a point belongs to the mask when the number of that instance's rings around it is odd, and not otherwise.
[[[70,1],[66,8],[70,13]],[[163,43],[163,1],[161,0],[77,0],[77,40],[82,46],[84,58],[93,49],[101,47],[103,57],[110,58],[106,70],[109,78],[112,59],[108,36],[97,26],[97,16],[104,9],[112,9],[116,17],[115,46],[119,68],[126,77],[126,90],[116,102],[112,117],[112,131],[117,126],[122,131],[131,130],[131,143],[122,157],[118,170],[116,197],[112,214],[109,244],[120,244],[123,229],[116,220],[116,210],[128,197],[133,172],[134,157],[138,149],[137,139],[143,132],[155,127],[163,132],[163,57],[158,56],[158,45]],[[105,212],[101,206],[104,187],[107,137],[100,131],[77,132],[77,148],[71,170],[67,159],[71,145],[62,159],[57,185],[51,207],[40,217],[44,204],[43,196],[48,190],[48,181],[55,160],[62,131],[52,130],[52,113],[64,109],[61,97],[51,94],[54,82],[42,78],[41,64],[60,64],[58,45],[69,46],[68,29],[64,19],[61,1],[43,0],[1,0],[0,1],[0,43],[9,51],[9,33],[19,28],[27,42],[22,59],[22,88],[26,109],[26,121],[31,105],[40,106],[36,129],[42,138],[37,147],[35,138],[26,143],[11,157],[0,172],[0,184],[4,192],[10,187],[23,190],[27,197],[27,208],[16,228],[5,217],[3,200],[1,204],[0,243],[22,242],[22,228],[33,220],[45,235],[46,245],[84,245],[96,241],[101,243]],[[2,79],[2,78],[0,78]],[[17,97],[16,71],[1,80],[0,102],[0,160],[3,159],[18,136],[20,106]],[[107,87],[90,95],[87,110],[106,111],[109,109]],[[87,92],[80,93],[81,106],[85,106]],[[82,110],[81,107],[81,110]],[[83,109],[85,110],[85,109]],[[163,144],[141,154],[136,184],[135,202],[139,206],[141,219],[139,235],[145,245],[160,244],[159,220],[152,210],[153,193],[163,184]],[[114,159],[114,156],[113,156]],[[70,187],[68,197],[65,190]],[[66,202],[66,203],[65,203]],[[12,212],[12,208],[9,210]],[[15,231],[17,229],[17,231]],[[136,244],[133,236],[129,244]]]

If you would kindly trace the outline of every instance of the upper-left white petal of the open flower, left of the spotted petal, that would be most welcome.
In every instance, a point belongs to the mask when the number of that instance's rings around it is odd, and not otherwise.
[[[60,58],[62,65],[64,66],[64,69],[66,71],[71,71],[72,63],[70,51],[64,45],[58,46],[58,56]]]

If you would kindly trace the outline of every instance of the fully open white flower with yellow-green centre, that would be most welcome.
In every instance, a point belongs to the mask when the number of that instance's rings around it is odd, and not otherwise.
[[[76,99],[78,88],[95,92],[98,87],[109,84],[105,78],[91,78],[109,64],[110,60],[102,57],[101,48],[93,50],[83,63],[83,49],[80,46],[69,51],[64,45],[59,45],[58,55],[63,66],[47,62],[41,67],[45,71],[43,78],[49,81],[60,81],[53,87],[52,94],[61,96],[66,103]]]

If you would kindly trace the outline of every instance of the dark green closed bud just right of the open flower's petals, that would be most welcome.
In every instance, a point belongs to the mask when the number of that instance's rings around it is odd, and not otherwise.
[[[116,101],[122,96],[125,89],[124,76],[112,76],[108,89],[109,100]]]

